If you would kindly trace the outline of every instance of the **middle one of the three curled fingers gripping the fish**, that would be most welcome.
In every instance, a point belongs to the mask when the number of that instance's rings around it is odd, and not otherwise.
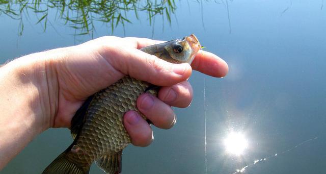
[[[176,122],[176,115],[171,106],[151,94],[140,95],[137,107],[158,128],[170,129]]]

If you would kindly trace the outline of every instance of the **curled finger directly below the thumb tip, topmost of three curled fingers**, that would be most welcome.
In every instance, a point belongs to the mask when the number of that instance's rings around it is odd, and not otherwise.
[[[158,98],[170,106],[185,108],[193,100],[193,88],[188,81],[162,87],[158,92]]]

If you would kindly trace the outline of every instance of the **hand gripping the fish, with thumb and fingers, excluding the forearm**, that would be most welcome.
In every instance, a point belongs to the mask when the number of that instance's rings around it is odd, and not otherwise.
[[[101,37],[73,47],[73,54],[61,58],[62,63],[55,68],[60,90],[58,112],[49,120],[50,126],[70,127],[72,116],[89,95],[129,74],[133,78],[164,86],[158,98],[142,94],[137,107],[156,127],[171,128],[176,116],[170,106],[183,108],[192,101],[193,89],[185,81],[192,69],[188,64],[171,64],[139,51],[158,42],[141,38]],[[203,51],[197,54],[192,66],[214,77],[223,77],[228,71],[222,59]],[[127,112],[124,125],[134,145],[147,146],[152,141],[150,126],[137,112]]]

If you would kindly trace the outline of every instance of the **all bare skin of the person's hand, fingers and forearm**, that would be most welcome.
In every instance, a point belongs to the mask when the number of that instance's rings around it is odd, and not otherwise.
[[[0,68],[0,170],[38,134],[49,128],[70,127],[88,96],[130,77],[162,86],[158,97],[142,94],[137,107],[153,125],[170,129],[171,106],[185,108],[193,98],[186,81],[192,69],[224,77],[228,65],[218,56],[200,51],[192,65],[172,64],[139,51],[161,41],[105,36],[80,45],[51,49],[15,59]],[[148,123],[135,111],[124,115],[132,144],[153,140]]]

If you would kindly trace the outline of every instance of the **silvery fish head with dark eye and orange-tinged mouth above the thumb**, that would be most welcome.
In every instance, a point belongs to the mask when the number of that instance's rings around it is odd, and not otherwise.
[[[166,43],[164,48],[169,56],[166,56],[165,60],[172,63],[191,64],[197,52],[201,49],[201,45],[194,34]]]

